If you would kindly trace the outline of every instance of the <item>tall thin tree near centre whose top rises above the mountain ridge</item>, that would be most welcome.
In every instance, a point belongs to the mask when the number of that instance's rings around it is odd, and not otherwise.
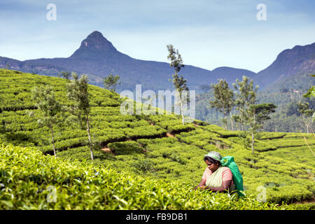
[[[179,77],[178,73],[181,71],[181,68],[184,67],[183,59],[181,59],[181,55],[179,54],[179,50],[175,50],[173,45],[167,45],[167,50],[169,50],[169,55],[167,56],[167,59],[171,61],[169,66],[172,66],[175,70],[175,73],[173,74],[172,80],[175,89],[177,92],[179,92],[179,105],[181,109],[181,118],[182,123],[185,125],[185,118],[183,115],[183,99],[184,97],[187,97],[187,101],[189,101],[188,96],[188,86],[187,86],[187,80],[183,78],[183,76]]]

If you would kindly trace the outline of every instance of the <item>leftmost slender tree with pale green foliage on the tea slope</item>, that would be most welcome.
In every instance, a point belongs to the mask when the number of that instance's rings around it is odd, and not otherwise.
[[[55,99],[55,92],[50,86],[35,87],[31,90],[31,93],[35,106],[43,113],[42,118],[38,120],[38,124],[47,126],[50,129],[52,149],[56,158],[54,126],[62,122],[62,105]],[[34,113],[29,113],[29,116],[34,116]]]

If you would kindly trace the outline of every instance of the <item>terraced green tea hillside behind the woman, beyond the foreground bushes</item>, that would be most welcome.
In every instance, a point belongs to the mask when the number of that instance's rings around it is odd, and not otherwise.
[[[66,80],[0,69],[0,139],[3,144],[34,147],[52,153],[50,132],[39,127],[40,114],[31,101],[36,85],[52,85],[62,104]],[[314,198],[314,155],[300,133],[261,132],[255,155],[244,145],[242,132],[228,132],[216,125],[195,120],[181,125],[174,115],[123,116],[123,99],[100,87],[89,87],[92,104],[91,133],[96,144],[94,166],[106,165],[118,171],[165,181],[197,186],[209,151],[232,155],[244,177],[246,195],[267,189],[267,202],[300,202]],[[34,111],[35,118],[27,116]],[[56,129],[57,157],[90,161],[87,135],[76,125]],[[315,146],[312,134],[304,134]],[[118,196],[119,197],[119,196]],[[178,207],[176,207],[178,208]]]

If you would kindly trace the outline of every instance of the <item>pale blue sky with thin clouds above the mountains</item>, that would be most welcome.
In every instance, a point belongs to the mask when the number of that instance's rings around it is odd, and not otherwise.
[[[46,19],[49,3],[55,21]],[[315,1],[1,0],[0,26],[0,56],[14,59],[69,57],[97,30],[136,59],[167,62],[173,44],[184,64],[258,72],[282,50],[315,42]]]

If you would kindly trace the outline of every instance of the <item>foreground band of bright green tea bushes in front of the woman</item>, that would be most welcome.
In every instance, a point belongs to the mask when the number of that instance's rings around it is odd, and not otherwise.
[[[25,166],[27,164],[27,167]],[[181,181],[153,180],[86,162],[0,144],[0,210],[240,210],[301,209],[191,190]],[[10,191],[7,191],[10,189]],[[179,190],[180,189],[180,190]],[[55,191],[54,191],[55,190]],[[116,217],[125,221],[125,216]]]

